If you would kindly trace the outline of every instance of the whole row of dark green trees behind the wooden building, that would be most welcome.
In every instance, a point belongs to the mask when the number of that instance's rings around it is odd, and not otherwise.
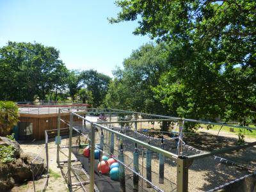
[[[68,70],[54,47],[8,42],[0,47],[0,100],[72,100],[97,107],[111,78],[95,70]]]

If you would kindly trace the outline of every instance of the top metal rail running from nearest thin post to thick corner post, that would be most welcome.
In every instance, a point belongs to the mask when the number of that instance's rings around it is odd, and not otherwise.
[[[122,134],[120,132],[117,132],[117,131],[114,131],[112,129],[109,129],[108,127],[104,127],[104,126],[96,124],[96,123],[93,123],[93,125],[95,125],[97,127],[100,127],[100,128],[102,128],[102,129],[104,129],[104,130],[106,130],[108,132],[113,132],[114,134],[116,134],[116,135],[118,135],[118,136],[120,136],[122,138],[130,140],[130,141],[132,141],[134,143],[138,143],[139,145],[142,145],[143,147],[149,148],[150,150],[152,150],[154,152],[157,152],[157,153],[160,153],[160,154],[163,154],[164,156],[169,157],[171,159],[177,159],[177,157],[178,157],[176,154],[173,154],[171,152],[163,150],[162,148],[159,148],[159,147],[154,147],[153,145],[149,145],[148,143],[145,143],[143,141],[136,140],[136,139],[131,138],[131,137],[125,135],[125,134]]]

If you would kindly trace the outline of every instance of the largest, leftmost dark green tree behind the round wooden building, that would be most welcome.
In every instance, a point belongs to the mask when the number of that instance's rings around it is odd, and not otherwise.
[[[44,100],[63,89],[67,68],[54,47],[8,42],[0,48],[0,99]]]

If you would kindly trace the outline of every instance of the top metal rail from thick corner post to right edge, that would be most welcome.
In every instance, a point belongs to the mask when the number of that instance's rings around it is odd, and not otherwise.
[[[213,155],[216,155],[216,154],[224,154],[226,152],[232,152],[233,150],[240,150],[242,148],[252,147],[254,145],[256,145],[256,141],[252,142],[252,143],[248,143],[246,145],[221,148],[219,150],[213,150],[211,152],[205,152],[203,154],[196,154],[196,155],[193,155],[193,156],[188,156],[188,159],[201,159],[201,158],[213,156]]]

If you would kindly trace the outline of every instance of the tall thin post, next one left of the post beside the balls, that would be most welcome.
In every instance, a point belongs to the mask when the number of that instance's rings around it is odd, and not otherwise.
[[[72,191],[72,180],[71,180],[71,150],[72,150],[72,122],[73,122],[73,113],[70,113],[69,121],[69,140],[68,140],[68,189]]]

